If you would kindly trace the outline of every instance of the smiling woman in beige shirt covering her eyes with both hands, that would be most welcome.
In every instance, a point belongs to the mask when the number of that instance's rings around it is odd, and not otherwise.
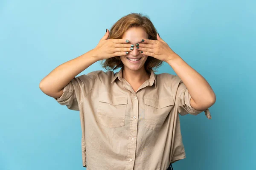
[[[94,62],[108,70],[76,77]],[[155,74],[167,62],[177,76]],[[184,159],[179,115],[205,112],[208,82],[164,42],[149,20],[128,14],[96,48],[59,65],[40,82],[61,105],[80,111],[82,161],[88,170],[166,170]],[[170,167],[171,165],[171,167]]]

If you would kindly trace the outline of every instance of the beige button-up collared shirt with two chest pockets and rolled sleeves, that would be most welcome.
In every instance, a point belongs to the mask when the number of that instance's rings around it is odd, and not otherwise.
[[[184,159],[180,115],[197,115],[178,76],[155,74],[134,92],[119,72],[75,77],[58,99],[80,111],[83,166],[87,170],[166,170]],[[209,109],[204,111],[211,119]]]

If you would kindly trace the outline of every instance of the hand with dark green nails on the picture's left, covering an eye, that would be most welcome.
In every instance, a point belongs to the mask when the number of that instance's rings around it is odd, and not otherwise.
[[[109,31],[107,29],[106,34],[99,41],[99,44],[92,50],[94,51],[97,59],[108,59],[115,56],[127,55],[129,51],[132,51],[134,45],[126,42],[125,39],[108,39]]]

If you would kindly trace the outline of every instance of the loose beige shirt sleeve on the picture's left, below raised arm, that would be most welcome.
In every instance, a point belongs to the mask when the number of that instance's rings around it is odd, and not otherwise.
[[[60,105],[66,105],[68,109],[79,111],[79,103],[83,102],[93,88],[95,74],[83,74],[74,77],[63,89],[63,94],[59,98],[54,98]]]

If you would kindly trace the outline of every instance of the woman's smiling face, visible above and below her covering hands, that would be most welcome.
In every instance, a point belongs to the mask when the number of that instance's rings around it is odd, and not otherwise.
[[[140,52],[140,48],[136,48],[136,44],[141,42],[142,39],[148,39],[148,34],[144,31],[143,28],[132,27],[125,32],[122,38],[125,40],[129,40],[130,43],[134,45],[134,49],[130,51],[127,55],[120,56],[125,69],[130,69],[132,71],[144,69],[144,64],[148,56],[143,55],[143,53]],[[139,60],[131,61],[134,59]]]

